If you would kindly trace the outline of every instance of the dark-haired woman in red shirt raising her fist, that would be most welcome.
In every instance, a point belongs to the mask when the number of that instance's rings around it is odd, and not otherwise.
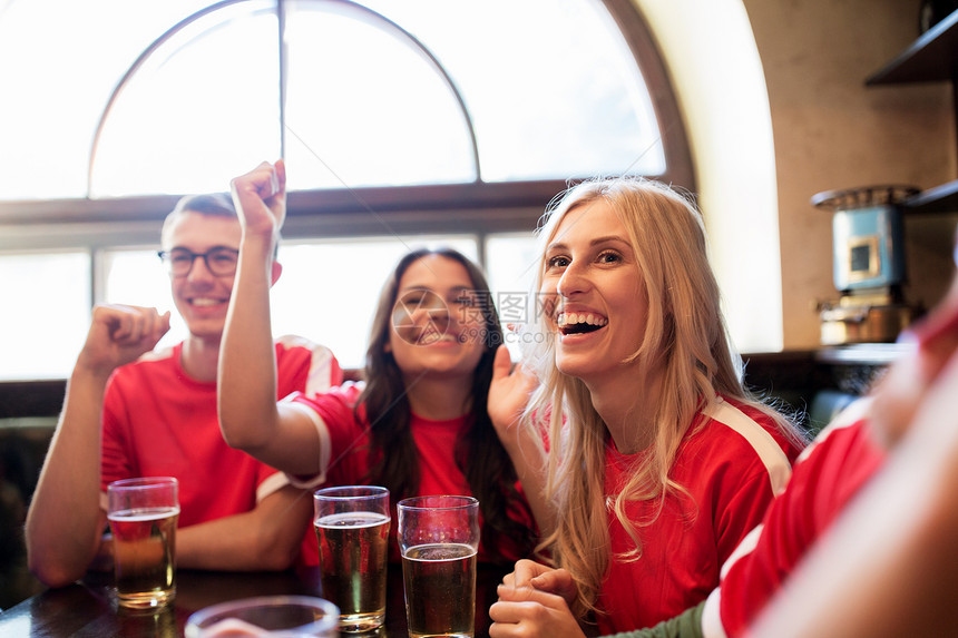
[[[233,180],[243,239],[219,361],[224,438],[303,487],[379,484],[393,502],[473,495],[482,519],[479,559],[529,556],[532,516],[486,410],[502,332],[486,278],[458,252],[421,249],[399,262],[373,320],[364,386],[280,403],[270,395],[265,265],[283,223],[284,183],[282,161]]]

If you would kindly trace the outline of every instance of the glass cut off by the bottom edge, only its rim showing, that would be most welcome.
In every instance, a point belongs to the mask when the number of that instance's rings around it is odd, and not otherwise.
[[[186,638],[335,638],[340,610],[312,596],[257,596],[213,605],[186,621]]]

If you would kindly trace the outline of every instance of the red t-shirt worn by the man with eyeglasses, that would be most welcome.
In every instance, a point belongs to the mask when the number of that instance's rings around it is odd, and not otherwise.
[[[136,477],[179,480],[180,528],[243,513],[289,484],[285,474],[223,440],[216,382],[195,381],[180,365],[183,344],[117,369],[104,399],[101,499],[111,481]],[[332,353],[305,340],[276,342],[277,399],[342,381]],[[106,504],[104,504],[106,509]],[[301,560],[319,563],[312,528]]]

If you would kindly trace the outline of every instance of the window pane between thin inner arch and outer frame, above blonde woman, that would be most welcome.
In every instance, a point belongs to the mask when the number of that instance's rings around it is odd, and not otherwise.
[[[648,89],[598,0],[364,3],[412,31],[452,76],[476,122],[483,180],[665,169]]]

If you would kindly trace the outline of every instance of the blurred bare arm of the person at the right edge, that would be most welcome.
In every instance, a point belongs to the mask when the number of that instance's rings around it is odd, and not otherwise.
[[[911,350],[881,380],[868,414],[887,460],[809,550],[750,636],[955,634],[958,277],[901,341]]]

